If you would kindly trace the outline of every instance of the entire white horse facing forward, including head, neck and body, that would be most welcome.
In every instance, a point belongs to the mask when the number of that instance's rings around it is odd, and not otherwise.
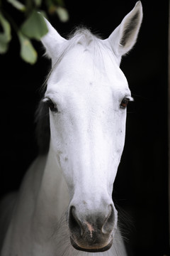
[[[142,4],[106,40],[87,29],[66,40],[46,22],[52,70],[38,117],[42,128],[50,118],[50,142],[1,203],[1,256],[125,256],[112,192],[132,97],[119,65],[137,39]]]

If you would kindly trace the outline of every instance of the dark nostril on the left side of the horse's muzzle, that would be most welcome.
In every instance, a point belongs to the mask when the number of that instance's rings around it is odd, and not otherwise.
[[[83,228],[79,218],[76,215],[76,208],[71,206],[69,210],[69,229],[73,234],[83,235]]]

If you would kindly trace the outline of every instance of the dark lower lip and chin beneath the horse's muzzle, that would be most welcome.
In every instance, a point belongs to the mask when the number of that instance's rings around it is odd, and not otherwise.
[[[70,241],[71,241],[71,244],[74,247],[74,249],[80,250],[83,252],[105,252],[105,251],[109,250],[113,244],[113,240],[111,240],[111,242],[109,242],[108,245],[106,245],[104,247],[80,247],[79,245],[77,245],[76,242],[74,242],[72,237],[70,237]]]

